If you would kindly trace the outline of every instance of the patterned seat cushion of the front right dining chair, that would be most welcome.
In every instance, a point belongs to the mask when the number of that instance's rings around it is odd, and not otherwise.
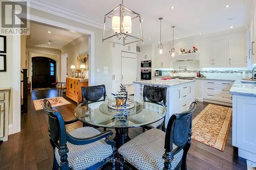
[[[164,139],[165,133],[159,129],[148,130],[134,139],[124,143],[118,153],[140,170],[160,169],[164,167]],[[173,148],[177,148],[173,145]],[[183,150],[174,156],[172,168],[174,169],[182,159]]]

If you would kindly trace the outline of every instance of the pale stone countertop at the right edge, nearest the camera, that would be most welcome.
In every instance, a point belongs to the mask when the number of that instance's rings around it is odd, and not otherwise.
[[[246,84],[242,82],[249,82],[251,84]],[[256,82],[248,80],[237,80],[233,83],[231,89],[229,90],[230,94],[236,95],[245,95],[256,98]]]

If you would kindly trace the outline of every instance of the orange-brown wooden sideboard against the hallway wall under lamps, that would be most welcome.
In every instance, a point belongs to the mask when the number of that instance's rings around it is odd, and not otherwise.
[[[75,101],[77,104],[82,102],[82,90],[81,87],[88,86],[88,79],[78,79],[78,78],[66,78],[67,89],[66,96]]]

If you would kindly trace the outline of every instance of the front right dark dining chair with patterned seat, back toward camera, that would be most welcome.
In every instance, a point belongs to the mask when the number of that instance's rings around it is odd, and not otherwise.
[[[187,169],[186,157],[191,145],[191,122],[196,102],[182,113],[170,117],[166,132],[148,130],[118,149],[118,157],[129,169]],[[125,162],[125,163],[124,163]]]

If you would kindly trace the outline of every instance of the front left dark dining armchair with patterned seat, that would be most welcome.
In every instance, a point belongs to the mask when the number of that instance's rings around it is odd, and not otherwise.
[[[115,169],[115,142],[108,138],[113,135],[112,131],[100,133],[93,127],[83,127],[67,133],[65,125],[73,122],[65,122],[47,100],[43,108],[48,114],[53,169],[97,169],[108,162],[112,162]]]

